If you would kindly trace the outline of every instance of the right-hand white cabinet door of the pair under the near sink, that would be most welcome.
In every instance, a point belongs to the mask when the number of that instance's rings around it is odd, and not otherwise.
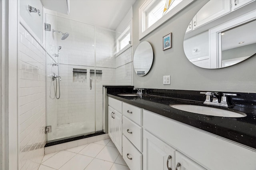
[[[175,152],[175,170],[206,170],[190,158]]]

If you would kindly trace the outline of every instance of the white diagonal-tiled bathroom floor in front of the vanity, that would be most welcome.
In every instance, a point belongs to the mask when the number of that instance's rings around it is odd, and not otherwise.
[[[44,155],[38,170],[130,170],[111,139]]]

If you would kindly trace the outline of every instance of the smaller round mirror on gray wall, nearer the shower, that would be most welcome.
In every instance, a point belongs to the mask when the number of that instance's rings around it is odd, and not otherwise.
[[[133,57],[134,71],[138,76],[145,76],[153,63],[153,49],[149,42],[141,42],[135,50]]]

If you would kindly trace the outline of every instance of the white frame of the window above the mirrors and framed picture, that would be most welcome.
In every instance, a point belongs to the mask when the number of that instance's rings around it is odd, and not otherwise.
[[[155,0],[146,0],[142,6],[139,8],[139,40],[141,40],[143,37],[154,31],[156,28],[158,28],[160,25],[164,24],[166,21],[168,21],[170,18],[172,18],[174,15],[178,14],[180,11],[182,11],[186,6],[191,4],[194,0],[182,0],[179,4],[177,4],[172,10],[167,12],[162,18],[160,18],[158,21],[156,21],[153,25],[145,29],[146,26],[146,14],[145,10],[147,9],[150,4],[154,3]]]

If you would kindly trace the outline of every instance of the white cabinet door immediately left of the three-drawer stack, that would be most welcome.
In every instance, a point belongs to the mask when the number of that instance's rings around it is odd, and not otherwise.
[[[114,144],[116,148],[122,155],[122,135],[123,135],[123,128],[122,128],[122,114],[118,111],[114,111]]]

